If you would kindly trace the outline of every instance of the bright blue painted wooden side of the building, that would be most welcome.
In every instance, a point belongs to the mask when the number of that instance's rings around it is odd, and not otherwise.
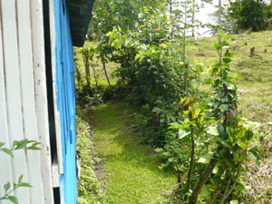
[[[65,0],[54,0],[56,90],[60,112],[63,175],[60,177],[60,193],[65,204],[77,203],[75,162],[75,87],[73,42],[69,15]]]

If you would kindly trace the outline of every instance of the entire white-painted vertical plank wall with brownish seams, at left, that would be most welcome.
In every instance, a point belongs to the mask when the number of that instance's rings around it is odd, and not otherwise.
[[[41,141],[42,151],[0,152],[0,195],[21,174],[33,188],[15,190],[22,204],[52,204],[42,0],[0,0],[0,141]],[[9,201],[0,201],[7,204]]]

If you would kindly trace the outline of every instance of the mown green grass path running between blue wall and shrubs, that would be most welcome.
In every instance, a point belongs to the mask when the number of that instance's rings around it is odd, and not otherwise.
[[[131,107],[125,103],[106,104],[90,112],[98,158],[102,159],[102,185],[107,203],[176,203],[177,189],[172,172],[160,170],[151,147],[141,145],[133,132]]]

